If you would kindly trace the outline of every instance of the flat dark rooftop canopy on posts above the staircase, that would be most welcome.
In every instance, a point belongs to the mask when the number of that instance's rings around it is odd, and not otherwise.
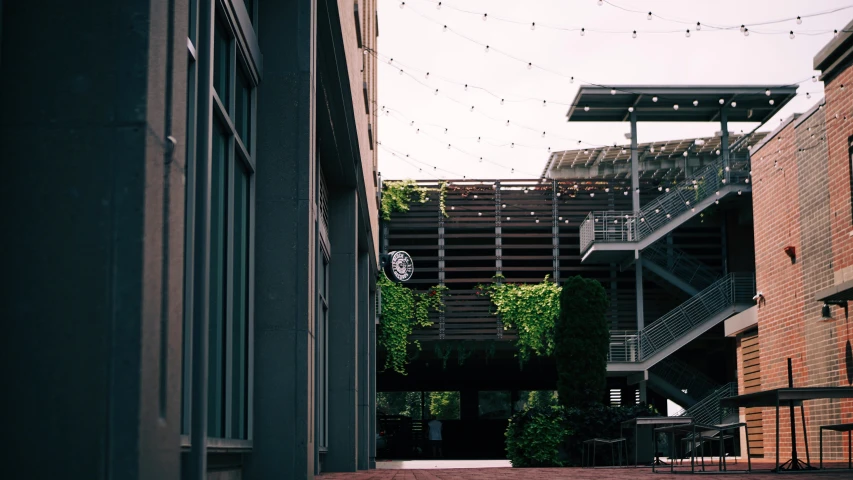
[[[796,92],[796,85],[585,85],[566,117],[570,122],[627,122],[633,109],[641,122],[717,122],[720,107],[726,106],[729,122],[764,123]]]

